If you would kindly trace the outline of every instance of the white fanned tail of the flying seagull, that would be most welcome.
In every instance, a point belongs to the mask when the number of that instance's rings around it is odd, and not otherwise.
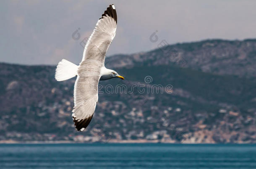
[[[65,81],[77,75],[78,66],[70,61],[62,59],[56,68],[55,79],[57,81]]]

